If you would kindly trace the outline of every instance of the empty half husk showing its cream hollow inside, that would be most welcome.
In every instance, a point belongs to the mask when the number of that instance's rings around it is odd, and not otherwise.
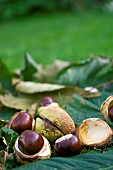
[[[77,135],[81,142],[88,147],[104,148],[112,140],[110,126],[99,118],[83,120],[77,129]]]

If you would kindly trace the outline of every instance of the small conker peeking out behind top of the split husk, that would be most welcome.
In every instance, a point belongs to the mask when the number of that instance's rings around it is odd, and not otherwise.
[[[42,107],[42,106],[46,106],[46,105],[49,105],[51,103],[55,102],[55,99],[52,98],[51,96],[46,96],[44,97],[40,103],[39,103],[39,106]]]

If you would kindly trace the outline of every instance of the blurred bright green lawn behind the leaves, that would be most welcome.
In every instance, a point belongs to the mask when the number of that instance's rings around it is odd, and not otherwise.
[[[113,14],[40,13],[0,23],[0,57],[10,70],[21,67],[29,52],[37,63],[78,61],[90,55],[113,57]]]

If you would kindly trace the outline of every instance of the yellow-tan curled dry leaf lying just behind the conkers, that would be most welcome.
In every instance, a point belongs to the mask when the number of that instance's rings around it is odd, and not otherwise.
[[[81,95],[84,98],[100,96],[100,93],[86,92],[84,89],[76,86],[24,81],[16,81],[14,84],[16,90],[21,92],[21,95],[0,95],[1,104],[8,108],[27,110],[31,114],[35,114],[36,107],[39,106],[41,99],[45,96],[53,97],[61,106],[65,106],[73,98],[74,94]]]

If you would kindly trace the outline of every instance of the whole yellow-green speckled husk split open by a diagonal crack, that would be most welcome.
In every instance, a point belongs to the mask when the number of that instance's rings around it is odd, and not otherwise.
[[[58,103],[53,102],[48,106],[40,107],[37,115],[41,120],[39,118],[36,119],[36,131],[43,135],[46,134],[50,141],[51,136],[53,138],[52,141],[55,141],[58,137],[65,134],[75,133],[73,119]],[[41,126],[43,129],[41,129]]]

